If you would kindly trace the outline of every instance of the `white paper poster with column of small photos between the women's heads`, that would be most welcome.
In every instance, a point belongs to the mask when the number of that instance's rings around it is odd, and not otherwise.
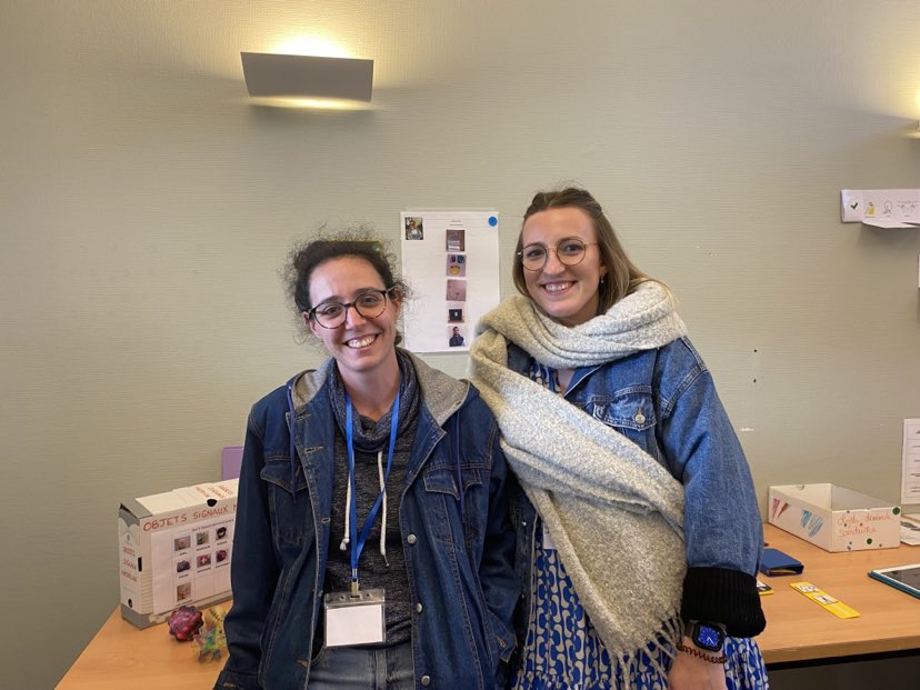
[[[413,352],[466,352],[500,299],[497,211],[400,213],[402,273],[413,299],[404,322]]]

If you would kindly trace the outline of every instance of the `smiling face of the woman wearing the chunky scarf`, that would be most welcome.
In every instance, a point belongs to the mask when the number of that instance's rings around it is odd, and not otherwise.
[[[560,240],[577,238],[588,244],[584,258],[576,266],[559,261],[556,247]],[[598,286],[607,274],[597,246],[598,237],[591,218],[574,207],[553,208],[533,213],[523,224],[524,247],[539,243],[548,247],[542,269],[524,269],[527,291],[552,319],[566,326],[578,326],[598,312]]]

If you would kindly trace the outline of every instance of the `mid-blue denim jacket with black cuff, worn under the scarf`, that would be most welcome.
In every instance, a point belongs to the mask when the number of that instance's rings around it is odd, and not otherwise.
[[[509,344],[509,368],[527,376],[531,363],[527,352]],[[564,397],[637,443],[683,484],[683,618],[724,623],[738,637],[759,633],[766,624],[756,590],[763,546],[760,509],[744,452],[690,341],[680,338],[577,369]],[[523,592],[517,622],[526,630],[537,514],[523,492],[512,510]]]

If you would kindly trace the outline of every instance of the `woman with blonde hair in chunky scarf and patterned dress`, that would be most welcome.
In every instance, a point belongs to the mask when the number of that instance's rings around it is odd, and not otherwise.
[[[471,380],[522,491],[513,687],[767,688],[750,471],[662,283],[586,190],[540,192]]]

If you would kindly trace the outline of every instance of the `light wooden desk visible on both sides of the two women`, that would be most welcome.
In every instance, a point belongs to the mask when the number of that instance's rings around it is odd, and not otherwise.
[[[804,563],[804,573],[761,580],[773,587],[762,598],[767,630],[758,638],[769,666],[913,650],[920,654],[920,599],[870,579],[872,568],[920,563],[920,547],[828,553],[764,526],[770,546]],[[860,612],[843,620],[789,587],[806,580]],[[138,630],[116,610],[58,690],[202,690],[211,688],[223,661],[199,663],[187,642],[166,624]]]

